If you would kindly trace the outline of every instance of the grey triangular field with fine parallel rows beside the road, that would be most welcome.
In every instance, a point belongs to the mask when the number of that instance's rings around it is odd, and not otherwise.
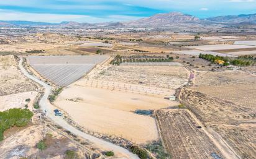
[[[34,64],[32,67],[45,79],[56,85],[66,86],[93,69],[94,64]]]

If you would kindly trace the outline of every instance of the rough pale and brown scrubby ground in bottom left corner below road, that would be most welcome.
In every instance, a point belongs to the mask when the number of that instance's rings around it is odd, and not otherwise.
[[[17,159],[21,157],[60,159],[65,156],[66,150],[75,150],[80,157],[86,158],[85,154],[90,153],[85,148],[74,144],[67,137],[58,134],[57,131],[42,124],[30,124],[30,126],[24,127],[21,130],[14,127],[9,129],[8,133],[12,135],[0,144],[1,158],[4,159]],[[47,148],[42,155],[35,145],[43,138],[45,139]]]

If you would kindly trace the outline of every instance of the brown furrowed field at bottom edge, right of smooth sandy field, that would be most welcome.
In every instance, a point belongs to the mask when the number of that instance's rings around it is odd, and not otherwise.
[[[222,157],[199,124],[187,110],[155,111],[165,148],[171,158],[211,158],[213,153]]]

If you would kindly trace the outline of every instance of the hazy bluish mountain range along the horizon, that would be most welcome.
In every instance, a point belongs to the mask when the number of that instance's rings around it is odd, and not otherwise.
[[[152,17],[132,20],[130,22],[105,22],[98,24],[61,22],[60,24],[51,24],[46,22],[30,22],[22,20],[0,20],[0,27],[67,27],[67,28],[85,28],[85,27],[168,27],[178,24],[252,24],[256,25],[256,14],[242,15],[224,15],[219,17],[209,17],[199,19],[190,14],[181,12],[170,12],[166,14],[156,14]]]

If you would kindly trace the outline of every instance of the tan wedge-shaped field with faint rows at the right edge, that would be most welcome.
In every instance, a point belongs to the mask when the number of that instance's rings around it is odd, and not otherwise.
[[[256,111],[255,84],[201,86],[191,89]]]

